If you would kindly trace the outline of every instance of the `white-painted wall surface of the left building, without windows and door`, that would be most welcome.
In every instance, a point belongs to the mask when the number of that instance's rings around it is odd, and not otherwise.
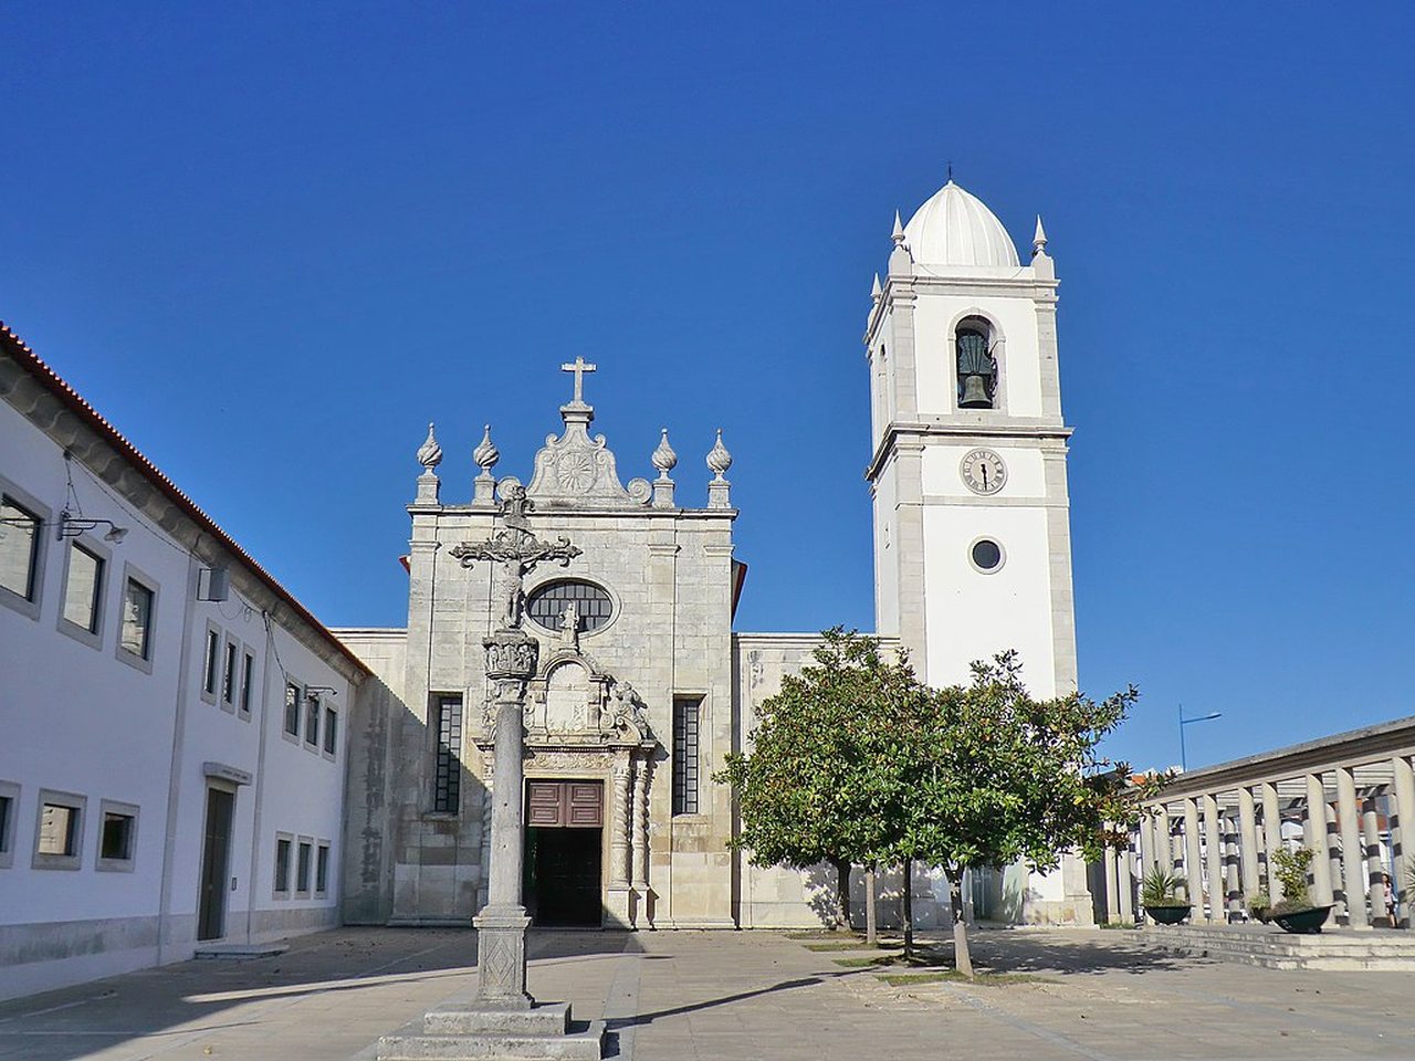
[[[333,757],[323,738],[314,750],[286,741],[284,679],[260,610],[238,591],[224,603],[195,601],[202,564],[78,460],[71,471],[83,515],[112,519],[127,535],[110,543],[108,528],[99,528],[79,539],[108,562],[96,638],[61,628],[69,543],[58,542],[52,526],[41,532],[38,614],[18,598],[0,601],[0,795],[18,787],[11,850],[0,854],[0,997],[191,956],[207,763],[250,775],[233,787],[228,876],[235,888],[224,893],[224,939],[259,941],[338,920],[348,680],[273,621],[284,668],[301,685],[338,692],[325,697],[341,719]],[[65,484],[62,447],[0,402],[0,488],[48,522],[65,505]],[[157,593],[147,668],[117,651],[129,570]],[[232,705],[224,703],[219,680],[215,697],[202,692],[208,622],[238,647]],[[239,703],[246,649],[255,655],[249,714]],[[35,864],[41,788],[86,799],[74,869]],[[98,866],[103,799],[137,808],[129,869]],[[325,895],[275,897],[276,830],[330,842]]]

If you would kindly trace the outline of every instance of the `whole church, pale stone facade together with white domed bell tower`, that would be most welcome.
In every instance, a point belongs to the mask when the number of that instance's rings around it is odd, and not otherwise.
[[[1071,560],[1056,347],[1056,273],[1040,221],[1023,266],[1002,224],[949,181],[896,221],[865,347],[873,456],[877,632],[935,683],[1016,648],[1039,696],[1075,688]],[[483,639],[507,607],[471,556],[518,519],[566,545],[525,586],[541,641],[526,707],[525,894],[543,925],[819,924],[831,874],[753,867],[732,849],[730,791],[712,781],[749,743],[756,706],[814,635],[733,631],[732,456],[708,453],[706,505],[688,506],[666,431],[651,477],[620,477],[591,434],[583,359],[526,482],[495,468],[491,430],[471,497],[444,498],[432,427],[408,506],[409,618],[341,630],[374,671],[351,734],[344,917],[466,924],[485,903],[491,726]],[[590,381],[593,382],[593,381]],[[941,880],[916,881],[923,924]],[[931,901],[931,894],[938,900]],[[1087,924],[1085,867],[971,881],[975,912]],[[979,908],[981,907],[981,908]]]

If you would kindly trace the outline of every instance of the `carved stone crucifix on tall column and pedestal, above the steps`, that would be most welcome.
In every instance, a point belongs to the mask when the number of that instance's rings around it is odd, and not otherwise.
[[[579,379],[579,376],[576,376]],[[477,1004],[525,1010],[535,1004],[526,993],[526,917],[521,894],[525,845],[522,784],[525,754],[526,682],[535,676],[539,642],[521,628],[525,576],[539,563],[567,566],[580,555],[570,539],[542,542],[526,511],[533,505],[525,487],[507,484],[501,523],[485,542],[463,542],[451,549],[463,567],[477,560],[495,563],[497,628],[481,644],[487,651],[487,679],[495,705],[495,750],[491,782],[491,879],[487,905],[473,920],[477,927]]]

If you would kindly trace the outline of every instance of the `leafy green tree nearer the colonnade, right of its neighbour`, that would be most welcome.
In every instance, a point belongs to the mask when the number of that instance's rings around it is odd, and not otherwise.
[[[894,853],[947,873],[959,972],[972,976],[964,870],[1024,862],[1046,871],[1067,850],[1095,860],[1128,839],[1139,815],[1129,768],[1098,747],[1138,695],[1131,686],[1099,703],[1081,693],[1034,700],[1016,652],[974,663],[969,686],[931,690],[908,734],[896,791],[907,825]]]

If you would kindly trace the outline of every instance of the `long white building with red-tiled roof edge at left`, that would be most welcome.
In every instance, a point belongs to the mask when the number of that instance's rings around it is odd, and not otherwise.
[[[362,665],[3,325],[0,398],[0,997],[337,924]]]

